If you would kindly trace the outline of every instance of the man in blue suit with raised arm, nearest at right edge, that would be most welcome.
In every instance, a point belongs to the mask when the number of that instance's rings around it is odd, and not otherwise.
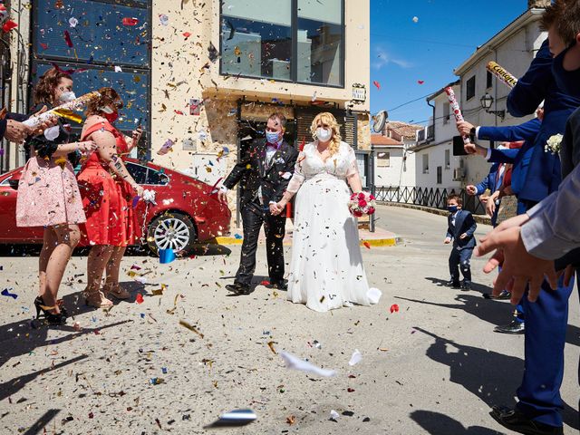
[[[542,18],[545,29],[556,25],[553,6],[546,8]],[[517,186],[517,195],[526,211],[556,191],[560,184],[558,156],[546,152],[544,147],[551,136],[565,131],[566,119],[580,106],[579,99],[558,88],[552,63],[546,40],[527,73],[507,97],[507,111],[513,116],[531,114],[542,100],[546,101],[545,118],[536,140],[526,143],[520,150],[523,153],[521,166],[525,182]],[[494,406],[490,412],[499,424],[509,430],[526,434],[564,433],[560,414],[563,402],[559,389],[564,374],[565,329],[571,291],[572,285],[566,286],[562,280],[556,291],[545,281],[536,304],[530,304],[527,297],[523,298],[527,323],[525,372],[517,389],[517,406],[515,410]]]

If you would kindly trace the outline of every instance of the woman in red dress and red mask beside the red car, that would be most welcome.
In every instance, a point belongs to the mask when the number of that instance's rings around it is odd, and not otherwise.
[[[111,88],[99,92],[101,97],[88,105],[82,127],[83,140],[94,140],[97,150],[83,163],[78,181],[87,217],[82,227],[82,245],[92,246],[84,296],[86,304],[103,308],[112,305],[105,294],[119,299],[129,297],[129,292],[119,285],[119,269],[125,249],[141,236],[132,206],[133,198],[142,196],[143,189],[125,168],[121,155],[127,154],[129,147],[111,124],[122,107],[121,98]],[[105,285],[101,290],[105,268]]]

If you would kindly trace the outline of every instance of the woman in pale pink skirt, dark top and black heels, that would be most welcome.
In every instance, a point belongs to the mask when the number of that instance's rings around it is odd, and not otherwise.
[[[56,69],[44,73],[34,89],[34,102],[40,107],[50,109],[73,98],[73,79]],[[81,194],[67,155],[95,149],[92,140],[70,143],[69,131],[70,126],[59,120],[43,135],[24,144],[31,158],[18,183],[16,201],[18,227],[44,227],[40,291],[34,306],[36,317],[42,311],[49,324],[66,322],[66,311],[57,303],[56,295],[64,269],[81,238],[79,224],[85,221]]]

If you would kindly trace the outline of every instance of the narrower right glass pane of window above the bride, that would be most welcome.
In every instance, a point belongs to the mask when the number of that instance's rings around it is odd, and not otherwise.
[[[298,0],[298,82],[342,86],[343,1]]]

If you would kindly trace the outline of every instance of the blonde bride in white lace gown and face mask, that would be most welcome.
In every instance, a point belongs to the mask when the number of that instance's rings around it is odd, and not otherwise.
[[[369,289],[357,220],[348,208],[348,185],[362,191],[354,151],[331,113],[319,113],[311,131],[316,140],[300,152],[276,205],[280,212],[297,192],[288,299],[319,312],[376,304],[381,292]]]

